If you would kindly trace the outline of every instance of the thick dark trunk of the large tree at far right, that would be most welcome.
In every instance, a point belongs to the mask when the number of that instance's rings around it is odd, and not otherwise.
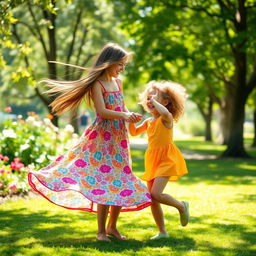
[[[256,15],[252,11],[256,6],[246,6],[244,0],[238,0],[230,5],[219,1],[219,6],[226,40],[234,61],[232,86],[227,87],[229,95],[233,95],[230,106],[230,132],[223,156],[247,157],[243,143],[243,124],[246,100],[256,88],[256,52],[253,52],[255,60],[252,67],[247,55],[255,41],[255,37],[250,33],[255,35],[256,31]]]

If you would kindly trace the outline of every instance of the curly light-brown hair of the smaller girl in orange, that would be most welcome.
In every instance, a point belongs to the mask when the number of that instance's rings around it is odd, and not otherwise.
[[[139,95],[140,104],[142,104],[147,112],[149,112],[147,97],[152,89],[156,89],[164,100],[168,100],[169,103],[166,105],[166,108],[172,114],[173,119],[178,121],[184,113],[187,98],[186,89],[172,81],[150,81],[146,84],[145,90]]]

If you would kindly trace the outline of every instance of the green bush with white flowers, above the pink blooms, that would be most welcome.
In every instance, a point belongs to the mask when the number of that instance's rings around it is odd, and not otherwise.
[[[33,164],[39,169],[62,154],[67,144],[72,144],[76,138],[72,126],[60,130],[50,119],[41,121],[32,114],[26,120],[20,117],[2,124],[0,153],[11,161],[18,157],[25,166]]]

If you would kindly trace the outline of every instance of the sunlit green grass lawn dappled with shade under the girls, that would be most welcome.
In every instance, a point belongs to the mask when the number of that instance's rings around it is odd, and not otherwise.
[[[188,148],[190,141],[179,146]],[[206,144],[214,152],[214,146]],[[217,150],[218,151],[218,150]],[[217,152],[216,152],[217,153]],[[217,153],[218,154],[218,153]],[[143,151],[132,150],[136,175],[143,172]],[[96,215],[66,210],[40,197],[0,205],[0,255],[256,255],[256,160],[188,160],[189,175],[169,183],[166,192],[190,202],[191,221],[179,224],[178,212],[163,206],[170,238],[151,241],[157,229],[150,209],[121,213],[120,231],[128,241],[96,242]]]

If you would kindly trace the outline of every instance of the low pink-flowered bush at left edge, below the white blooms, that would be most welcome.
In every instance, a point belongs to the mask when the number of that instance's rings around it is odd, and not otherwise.
[[[0,196],[27,192],[28,168],[19,158],[10,161],[9,157],[0,154]]]

